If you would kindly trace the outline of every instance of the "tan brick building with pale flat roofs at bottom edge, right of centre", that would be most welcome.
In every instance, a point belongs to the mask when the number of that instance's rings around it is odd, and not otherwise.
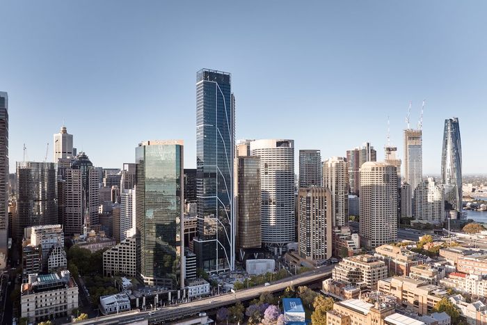
[[[333,310],[326,312],[326,324],[376,324],[376,325],[425,325],[417,319],[396,312],[390,303],[367,303],[349,299],[333,304]]]

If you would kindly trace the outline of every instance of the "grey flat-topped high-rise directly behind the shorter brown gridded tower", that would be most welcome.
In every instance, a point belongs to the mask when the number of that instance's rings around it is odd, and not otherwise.
[[[299,150],[299,187],[322,187],[323,168],[319,150]]]

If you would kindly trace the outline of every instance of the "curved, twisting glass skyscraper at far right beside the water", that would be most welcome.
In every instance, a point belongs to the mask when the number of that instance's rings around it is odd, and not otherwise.
[[[445,188],[445,209],[462,210],[462,143],[458,118],[447,118],[443,131],[441,180]]]

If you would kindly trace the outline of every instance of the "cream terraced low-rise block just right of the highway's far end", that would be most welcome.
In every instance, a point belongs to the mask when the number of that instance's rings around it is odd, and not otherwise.
[[[374,290],[378,280],[388,277],[385,262],[372,255],[346,257],[333,269],[333,280],[361,289]]]

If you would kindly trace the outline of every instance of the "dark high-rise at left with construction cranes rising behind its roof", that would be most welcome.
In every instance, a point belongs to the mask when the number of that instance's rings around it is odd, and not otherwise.
[[[24,228],[58,222],[56,184],[56,164],[17,162],[15,239],[22,240]]]

